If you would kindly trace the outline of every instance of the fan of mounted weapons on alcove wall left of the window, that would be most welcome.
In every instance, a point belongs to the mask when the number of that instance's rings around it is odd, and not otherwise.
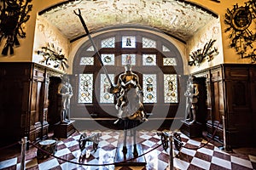
[[[41,50],[38,50],[38,54],[41,54],[44,57],[40,63],[44,63],[45,65],[53,65],[54,68],[65,71],[68,68],[67,58],[64,54],[61,54],[61,52],[62,49],[55,48],[53,43],[51,45],[47,43],[46,47],[42,47]]]

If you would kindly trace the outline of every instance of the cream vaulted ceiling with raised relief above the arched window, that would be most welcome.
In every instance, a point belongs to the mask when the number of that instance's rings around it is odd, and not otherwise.
[[[112,26],[148,26],[186,42],[217,17],[206,8],[183,0],[73,0],[46,8],[39,14],[68,40],[85,35],[81,14],[90,32]]]

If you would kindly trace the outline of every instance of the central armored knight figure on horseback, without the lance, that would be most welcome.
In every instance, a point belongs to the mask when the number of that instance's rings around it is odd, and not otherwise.
[[[123,153],[127,153],[127,130],[131,129],[133,135],[133,155],[137,156],[136,127],[139,123],[147,121],[147,118],[142,103],[143,89],[139,84],[137,74],[131,71],[130,64],[125,65],[125,72],[119,75],[118,82],[110,89],[110,93],[115,94],[117,98],[115,106],[118,111],[118,120],[114,124],[123,121],[125,125]]]

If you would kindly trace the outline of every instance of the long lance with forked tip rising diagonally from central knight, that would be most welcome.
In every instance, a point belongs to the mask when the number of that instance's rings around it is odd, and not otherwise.
[[[73,11],[73,12],[74,12],[74,14],[76,14],[76,15],[79,16],[79,19],[80,19],[82,25],[84,26],[84,30],[85,30],[86,34],[88,35],[88,37],[89,37],[89,39],[90,39],[90,42],[91,42],[93,48],[96,50],[96,56],[98,57],[98,59],[99,59],[100,62],[101,62],[103,71],[104,71],[106,77],[108,78],[108,82],[110,83],[111,87],[113,87],[113,83],[111,82],[110,77],[108,76],[108,71],[107,71],[105,65],[104,65],[103,62],[102,62],[101,55],[100,55],[98,49],[96,48],[96,44],[95,44],[95,42],[93,41],[92,37],[90,37],[90,32],[88,31],[88,28],[87,28],[87,26],[86,26],[86,24],[85,24],[85,22],[84,22],[84,19],[83,19],[82,15],[81,15],[80,9],[79,9],[79,13],[76,13],[75,11]]]

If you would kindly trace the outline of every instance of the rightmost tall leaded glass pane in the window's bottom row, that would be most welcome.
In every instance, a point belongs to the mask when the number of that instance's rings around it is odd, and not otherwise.
[[[165,103],[177,103],[177,75],[164,75]]]

